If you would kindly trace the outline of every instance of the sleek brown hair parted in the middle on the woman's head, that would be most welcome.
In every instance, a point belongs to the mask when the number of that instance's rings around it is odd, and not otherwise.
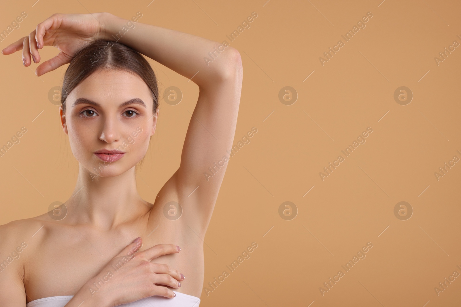
[[[113,41],[95,40],[80,49],[65,71],[61,90],[61,104],[65,111],[67,95],[83,80],[100,69],[125,70],[141,77],[154,99],[153,112],[159,105],[159,88],[154,70],[136,50]]]

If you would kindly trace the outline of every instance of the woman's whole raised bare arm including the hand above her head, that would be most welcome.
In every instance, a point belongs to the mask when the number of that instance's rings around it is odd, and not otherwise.
[[[110,13],[53,14],[35,31],[3,49],[23,50],[24,66],[41,61],[39,50],[61,52],[41,63],[37,75],[70,63],[95,39],[118,41],[195,82],[200,90],[183,145],[181,164],[165,184],[205,231],[227,168],[242,89],[242,60],[235,48],[195,35],[127,20]],[[136,21],[136,23],[135,23]],[[38,48],[38,49],[37,49]],[[205,60],[208,58],[208,60]],[[213,59],[210,62],[209,59]],[[153,124],[156,121],[153,121]],[[184,208],[186,209],[186,208]]]

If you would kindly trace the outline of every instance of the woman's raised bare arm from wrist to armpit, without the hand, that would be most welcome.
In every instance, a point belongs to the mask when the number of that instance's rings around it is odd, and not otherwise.
[[[231,46],[139,22],[123,34],[128,21],[110,14],[103,21],[106,40],[119,39],[191,79],[200,89],[181,165],[167,185],[176,185],[179,203],[189,212],[193,209],[201,228],[197,230],[205,231],[227,167],[226,151],[231,150],[236,129],[242,89],[240,54]],[[210,58],[209,52],[214,53],[212,63],[204,59]]]

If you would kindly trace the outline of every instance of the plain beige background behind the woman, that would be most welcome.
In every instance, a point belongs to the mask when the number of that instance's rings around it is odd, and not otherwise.
[[[28,16],[0,47],[55,12],[124,18],[142,12],[142,23],[219,42],[258,14],[230,43],[244,70],[235,143],[251,127],[258,132],[229,162],[205,238],[204,286],[252,242],[258,248],[213,292],[202,293],[201,306],[459,306],[461,278],[438,296],[434,290],[453,271],[461,273],[461,163],[438,181],[434,175],[453,156],[461,158],[461,47],[438,66],[434,60],[453,41],[461,43],[459,1],[149,2],[7,1],[0,29],[23,11]],[[373,17],[366,28],[322,66],[323,52],[367,12]],[[57,53],[46,47],[41,54]],[[67,65],[38,78],[36,64],[23,67],[21,52],[0,56],[0,63],[0,145],[21,127],[28,130],[0,158],[5,224],[65,201],[77,162],[58,107],[47,98]],[[198,87],[150,63],[161,93],[176,86],[184,96],[175,106],[160,101],[158,129],[139,172],[139,191],[153,201],[179,166]],[[295,104],[279,101],[285,86],[298,93]],[[393,98],[401,86],[414,94],[408,105]],[[373,129],[366,143],[320,180],[319,172],[366,127]],[[278,214],[285,201],[296,204],[293,220]],[[400,201],[414,209],[408,220],[394,215]],[[366,258],[322,296],[319,287],[367,242],[373,247]]]

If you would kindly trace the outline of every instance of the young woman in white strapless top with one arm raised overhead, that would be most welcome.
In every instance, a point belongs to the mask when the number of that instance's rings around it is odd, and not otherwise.
[[[0,306],[198,307],[203,239],[236,128],[240,54],[110,13],[53,14],[2,53],[22,49],[29,66],[43,46],[60,52],[37,75],[70,63],[60,118],[79,174],[64,205],[0,226]],[[138,52],[200,90],[180,166],[153,203],[137,193],[135,167],[155,132],[159,94]]]

